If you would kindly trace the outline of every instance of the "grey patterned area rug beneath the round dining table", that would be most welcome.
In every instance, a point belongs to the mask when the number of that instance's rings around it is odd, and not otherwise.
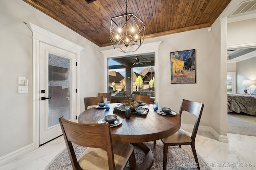
[[[153,149],[153,142],[146,142],[146,145],[152,150],[154,161],[150,170],[162,170],[163,169],[163,144],[160,140],[156,141],[156,149]],[[86,150],[85,147],[80,147],[74,145],[74,150],[76,156],[79,158]],[[134,147],[134,152],[136,156],[137,164],[144,160],[145,154],[138,147]],[[204,159],[197,154],[198,161],[201,170],[211,170],[210,167],[207,167],[207,163]],[[127,164],[129,166],[129,163]],[[190,145],[182,146],[182,149],[179,146],[168,147],[168,170],[197,170],[195,165],[194,156],[191,150]],[[60,154],[58,154],[52,162],[48,164],[45,170],[72,170],[72,165],[70,158],[68,156],[68,151],[64,149]]]

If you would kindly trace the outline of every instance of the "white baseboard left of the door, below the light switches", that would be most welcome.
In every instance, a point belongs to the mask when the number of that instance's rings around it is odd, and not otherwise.
[[[12,160],[19,158],[20,156],[23,156],[24,154],[27,154],[27,153],[33,151],[33,150],[34,150],[34,145],[33,145],[33,143],[31,143],[30,145],[27,145],[25,147],[22,147],[18,150],[15,150],[9,154],[6,154],[6,155],[0,157],[0,167],[3,166],[4,164],[11,162]]]

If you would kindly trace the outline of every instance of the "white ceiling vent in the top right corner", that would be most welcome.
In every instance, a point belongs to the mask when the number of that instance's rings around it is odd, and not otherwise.
[[[239,4],[239,6],[230,14],[230,16],[254,12],[256,12],[256,0],[247,0],[241,2],[241,4]]]

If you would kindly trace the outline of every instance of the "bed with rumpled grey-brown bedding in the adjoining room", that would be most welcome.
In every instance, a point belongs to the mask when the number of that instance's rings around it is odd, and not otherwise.
[[[255,90],[254,90],[255,91]],[[256,95],[228,94],[228,112],[256,115]]]

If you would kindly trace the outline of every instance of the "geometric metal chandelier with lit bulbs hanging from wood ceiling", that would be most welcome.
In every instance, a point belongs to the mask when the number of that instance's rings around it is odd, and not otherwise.
[[[115,50],[121,52],[136,51],[144,41],[145,25],[132,13],[111,18],[109,38]]]

